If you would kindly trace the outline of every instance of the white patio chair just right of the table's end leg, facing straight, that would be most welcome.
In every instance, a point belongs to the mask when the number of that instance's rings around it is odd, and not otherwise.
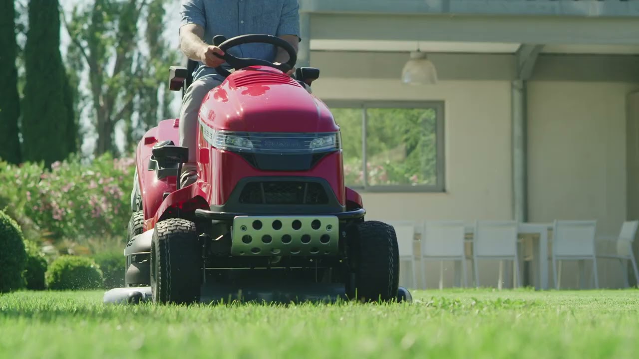
[[[599,288],[597,276],[597,257],[595,237],[597,233],[596,220],[555,220],[553,224],[553,275],[555,288],[561,287],[562,261],[579,261],[580,278],[584,275],[584,261],[592,261],[592,277],[594,285]],[[557,269],[557,261],[559,268]]]

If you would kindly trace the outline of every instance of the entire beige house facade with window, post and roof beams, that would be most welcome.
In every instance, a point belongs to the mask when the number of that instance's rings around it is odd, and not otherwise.
[[[347,160],[362,172],[373,166],[366,179],[350,179],[369,218],[597,220],[598,236],[616,236],[624,220],[639,219],[639,1],[300,6],[300,65],[320,68],[314,93],[336,109],[338,122],[342,116],[345,137],[359,141],[362,150],[345,150]],[[438,83],[401,82],[417,49],[433,61]],[[395,126],[387,118],[399,109],[406,123]],[[399,168],[410,159],[393,157],[374,136],[406,134],[410,121],[424,143],[434,141],[435,155],[427,169],[415,162],[424,178],[411,183],[410,173],[398,172],[400,179],[389,181],[392,174],[375,166]],[[637,249],[639,243],[635,256]],[[437,286],[439,265],[428,265],[427,285]],[[444,267],[447,286],[452,268]],[[482,264],[482,283],[496,284],[497,268]],[[562,287],[577,285],[577,268],[564,265]],[[626,269],[599,261],[600,286],[624,286]]]

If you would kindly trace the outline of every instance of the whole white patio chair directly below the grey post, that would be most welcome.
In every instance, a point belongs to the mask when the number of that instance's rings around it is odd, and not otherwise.
[[[521,286],[521,270],[517,250],[518,225],[511,220],[475,222],[473,235],[473,263],[475,264],[475,286],[479,288],[479,270],[477,263],[481,259],[499,259],[498,289],[504,282],[504,261],[512,261],[516,286]]]

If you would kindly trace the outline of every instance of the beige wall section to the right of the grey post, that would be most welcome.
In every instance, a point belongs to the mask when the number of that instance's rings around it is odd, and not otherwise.
[[[528,217],[597,220],[615,236],[627,215],[626,95],[614,82],[537,82],[528,86]],[[601,251],[613,250],[599,243]],[[564,264],[562,286],[576,286],[577,263]],[[621,287],[617,261],[601,259],[606,286]],[[587,265],[587,273],[591,266]],[[601,279],[600,279],[601,280]]]

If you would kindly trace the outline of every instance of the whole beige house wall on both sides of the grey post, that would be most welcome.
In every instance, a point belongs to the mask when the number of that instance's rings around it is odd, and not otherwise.
[[[343,67],[333,65],[344,63],[339,56],[341,54],[317,53],[311,58],[312,66],[323,71],[313,86],[320,98],[445,102],[446,192],[364,192],[367,218],[389,221],[512,218],[511,85],[508,80],[512,68],[490,68],[486,61],[466,63],[465,57],[448,55],[450,61],[465,64],[464,77],[472,77],[474,72],[485,74],[486,70],[495,80],[487,80],[484,75],[479,75],[479,79],[459,79],[454,69],[444,65],[444,75],[436,86],[413,87],[399,83],[399,74],[397,78],[389,78],[383,71],[401,69],[403,63],[399,60],[403,57],[344,54],[343,60],[357,59],[354,70],[358,75],[353,77],[351,73],[350,78],[343,79],[338,75],[344,73]],[[581,61],[580,57],[572,58]],[[376,66],[380,61],[383,66]],[[551,57],[545,58],[528,88],[529,220],[592,218],[599,222],[599,234],[615,235],[627,218],[626,96],[638,87],[614,82],[622,72],[619,66],[610,73],[614,80],[609,82],[604,81],[606,73],[599,66],[592,69],[599,73],[596,78],[579,80],[580,73],[589,73],[580,66],[580,72],[566,74],[567,79],[548,80],[548,74],[566,67],[567,61],[566,57],[557,57],[556,63]],[[392,63],[396,65],[390,66]],[[376,70],[385,73],[382,79],[371,78],[375,77]],[[602,285],[623,286],[618,263],[602,260],[599,267]],[[452,284],[453,268],[450,264],[444,268],[446,286]],[[480,265],[482,284],[497,284],[497,268],[496,262]],[[577,268],[574,263],[565,264],[562,286],[577,286]],[[401,270],[403,280],[410,278],[408,266],[403,265]],[[427,266],[427,286],[438,286],[438,271],[437,263]],[[589,271],[587,265],[588,275]],[[505,280],[511,279],[505,277]],[[551,278],[549,280],[552,284]],[[506,283],[505,287],[509,285]]]

